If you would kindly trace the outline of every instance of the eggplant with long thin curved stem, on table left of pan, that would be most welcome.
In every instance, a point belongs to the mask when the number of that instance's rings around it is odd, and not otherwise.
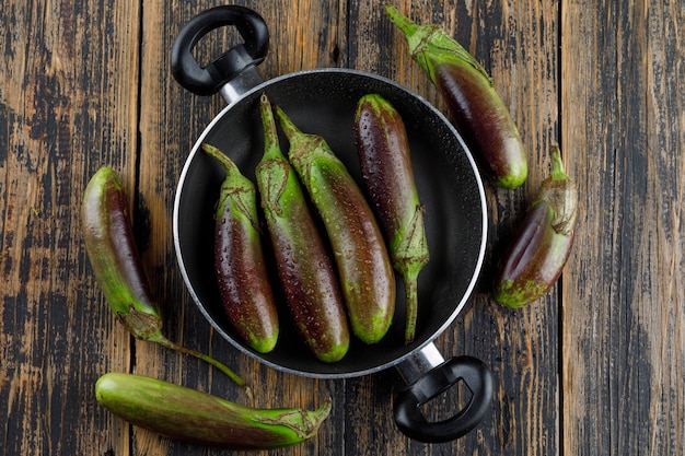
[[[245,382],[213,358],[186,349],[162,335],[162,318],[133,238],[124,185],[108,166],[89,180],[81,204],[85,252],[95,279],[118,321],[137,339],[201,359],[241,386]]]

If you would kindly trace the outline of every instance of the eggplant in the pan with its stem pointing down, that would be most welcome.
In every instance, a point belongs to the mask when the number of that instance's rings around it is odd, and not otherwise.
[[[416,332],[418,276],[429,260],[409,139],[399,113],[379,94],[359,100],[353,132],[362,182],[385,234],[393,267],[404,281],[405,342],[409,343]]]

